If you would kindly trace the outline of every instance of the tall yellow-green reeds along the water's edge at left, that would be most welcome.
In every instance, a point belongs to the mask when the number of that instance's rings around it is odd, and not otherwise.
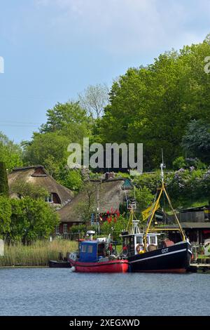
[[[0,256],[2,266],[46,266],[49,260],[57,260],[59,252],[66,256],[66,252],[78,248],[77,242],[67,239],[37,241],[30,246],[23,244],[5,245],[4,256]]]

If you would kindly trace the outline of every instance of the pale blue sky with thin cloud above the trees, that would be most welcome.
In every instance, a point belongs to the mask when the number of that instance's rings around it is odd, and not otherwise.
[[[209,0],[0,0],[0,131],[29,140],[57,102],[202,42],[209,21]]]

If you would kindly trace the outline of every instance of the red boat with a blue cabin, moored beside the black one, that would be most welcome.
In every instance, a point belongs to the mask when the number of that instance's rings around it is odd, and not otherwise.
[[[69,262],[76,272],[127,272],[129,267],[106,238],[80,241],[78,253],[71,253]]]

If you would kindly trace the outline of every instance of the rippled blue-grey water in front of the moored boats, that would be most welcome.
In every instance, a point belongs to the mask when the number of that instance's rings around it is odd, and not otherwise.
[[[210,275],[0,269],[0,315],[210,315]]]

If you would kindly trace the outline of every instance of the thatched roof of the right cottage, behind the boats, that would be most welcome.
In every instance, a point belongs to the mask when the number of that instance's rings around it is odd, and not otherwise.
[[[99,208],[99,213],[106,213],[107,211],[118,211],[120,204],[125,202],[126,194],[124,189],[124,178],[111,180],[91,180],[90,183],[93,188],[94,209]],[[59,216],[63,223],[79,223],[83,222],[80,214],[80,205],[88,203],[88,194],[83,190],[71,202],[60,209]],[[89,219],[87,219],[89,220]]]

